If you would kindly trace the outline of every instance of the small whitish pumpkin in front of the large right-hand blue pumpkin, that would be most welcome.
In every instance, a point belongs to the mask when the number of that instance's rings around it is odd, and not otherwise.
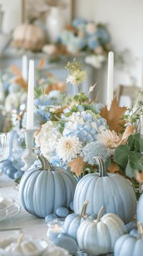
[[[81,223],[77,232],[79,247],[90,255],[101,255],[113,252],[116,240],[126,232],[125,224],[113,213],[101,218],[104,207],[98,213],[97,220]]]

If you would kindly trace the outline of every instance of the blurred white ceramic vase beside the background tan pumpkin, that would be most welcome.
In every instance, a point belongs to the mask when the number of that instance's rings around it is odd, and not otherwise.
[[[66,26],[66,16],[60,7],[51,7],[46,19],[47,39],[49,43],[56,43],[58,36]]]

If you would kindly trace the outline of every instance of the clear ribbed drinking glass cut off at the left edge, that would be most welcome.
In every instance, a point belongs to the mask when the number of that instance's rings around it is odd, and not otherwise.
[[[0,133],[0,162],[7,159],[9,153],[9,134]]]

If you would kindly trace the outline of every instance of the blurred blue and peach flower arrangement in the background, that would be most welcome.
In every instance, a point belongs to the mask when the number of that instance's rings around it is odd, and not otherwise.
[[[57,44],[45,45],[43,51],[52,57],[82,55],[85,63],[100,68],[110,50],[107,27],[86,19],[74,19],[59,35]]]

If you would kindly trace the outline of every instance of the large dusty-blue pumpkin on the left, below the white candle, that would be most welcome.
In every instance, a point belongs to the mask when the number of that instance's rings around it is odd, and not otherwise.
[[[45,218],[59,206],[69,207],[76,188],[76,179],[61,167],[53,167],[39,156],[42,167],[33,167],[22,176],[19,194],[27,212]]]

